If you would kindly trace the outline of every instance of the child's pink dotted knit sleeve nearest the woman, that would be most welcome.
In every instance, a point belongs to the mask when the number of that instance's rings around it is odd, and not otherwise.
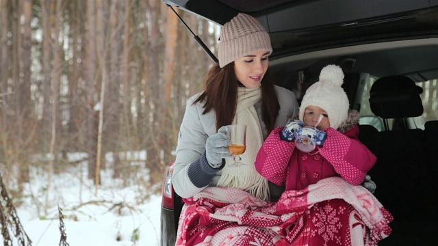
[[[272,130],[268,138],[261,146],[255,168],[261,176],[277,185],[285,185],[289,159],[295,148],[295,143],[280,139],[280,133],[284,126]]]

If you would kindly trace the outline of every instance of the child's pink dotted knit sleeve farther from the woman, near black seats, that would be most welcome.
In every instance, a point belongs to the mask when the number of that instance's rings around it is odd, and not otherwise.
[[[333,165],[335,171],[350,184],[361,184],[376,163],[376,156],[357,138],[350,138],[328,128],[327,140],[320,154]]]

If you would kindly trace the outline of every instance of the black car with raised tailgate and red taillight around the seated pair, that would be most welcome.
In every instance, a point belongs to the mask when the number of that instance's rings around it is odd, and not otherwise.
[[[298,101],[322,67],[337,64],[346,73],[344,90],[352,109],[368,103],[366,81],[389,76],[408,77],[417,85],[428,81],[428,88],[435,87],[431,101],[438,104],[438,0],[162,1],[218,25],[239,12],[257,18],[270,33],[271,74]],[[369,173],[377,184],[375,195],[395,217],[393,233],[379,245],[438,245],[438,107],[424,106],[428,122],[418,128],[411,117],[418,115],[402,110],[411,108],[410,94],[398,89],[389,86],[370,100],[371,115],[361,112],[362,123],[371,119],[379,128],[368,131],[363,126],[359,135],[378,157]],[[376,111],[385,104],[401,115],[389,118]],[[391,131],[383,122],[391,123]],[[171,174],[172,163],[163,186],[162,245],[175,244],[183,205],[172,190]]]

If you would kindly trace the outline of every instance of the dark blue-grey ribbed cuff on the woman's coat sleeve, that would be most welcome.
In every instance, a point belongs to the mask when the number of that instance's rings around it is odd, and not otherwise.
[[[206,187],[211,182],[211,179],[214,178],[215,174],[222,168],[224,168],[223,164],[218,168],[211,167],[207,158],[205,158],[204,152],[200,159],[189,165],[187,173],[194,186],[202,188]]]

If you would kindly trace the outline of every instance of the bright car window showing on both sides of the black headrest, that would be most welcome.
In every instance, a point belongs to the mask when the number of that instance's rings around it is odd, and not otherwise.
[[[376,78],[369,77],[366,81],[365,88],[363,90],[363,97],[361,102],[361,119],[359,124],[370,124],[374,126],[378,131],[384,131],[383,119],[374,115],[370,109],[370,88],[376,81]],[[424,82],[417,82],[418,86],[422,87],[423,92],[420,94],[423,102],[424,112],[422,115],[409,119],[410,128],[420,128],[424,130],[424,123],[430,120],[438,120],[438,79],[433,79]],[[389,119],[389,129],[394,120]]]

